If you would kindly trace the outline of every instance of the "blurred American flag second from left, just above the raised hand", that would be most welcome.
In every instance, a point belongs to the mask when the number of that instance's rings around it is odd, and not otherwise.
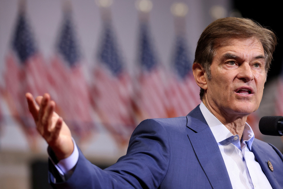
[[[64,11],[55,49],[49,76],[53,86],[51,97],[57,102],[57,111],[70,127],[73,137],[85,141],[92,136],[95,127],[89,86],[70,9]]]

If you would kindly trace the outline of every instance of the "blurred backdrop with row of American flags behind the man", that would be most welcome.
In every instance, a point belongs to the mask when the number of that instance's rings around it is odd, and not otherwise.
[[[271,28],[279,45],[259,110],[283,115],[279,6],[228,0],[0,0],[0,188],[49,188],[46,142],[24,94],[51,94],[85,156],[107,167],[146,118],[185,116],[200,103],[191,66],[199,35],[217,18]],[[278,7],[278,8],[277,8]]]

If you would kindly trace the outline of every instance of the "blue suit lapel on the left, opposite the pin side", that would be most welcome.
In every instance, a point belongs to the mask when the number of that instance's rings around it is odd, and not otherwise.
[[[212,188],[232,188],[217,142],[199,106],[187,115],[187,135]]]

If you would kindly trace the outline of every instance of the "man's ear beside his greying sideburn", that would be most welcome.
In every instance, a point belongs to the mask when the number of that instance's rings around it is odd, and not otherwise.
[[[193,63],[193,75],[198,86],[207,90],[207,75],[200,63]]]

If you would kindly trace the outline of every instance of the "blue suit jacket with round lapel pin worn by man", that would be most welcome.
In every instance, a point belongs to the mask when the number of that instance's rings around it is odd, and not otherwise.
[[[252,151],[271,186],[283,188],[282,153],[257,139]],[[186,117],[141,122],[132,134],[127,154],[104,170],[92,165],[80,151],[72,176],[67,182],[52,185],[55,188],[232,188],[217,142],[199,106]]]

